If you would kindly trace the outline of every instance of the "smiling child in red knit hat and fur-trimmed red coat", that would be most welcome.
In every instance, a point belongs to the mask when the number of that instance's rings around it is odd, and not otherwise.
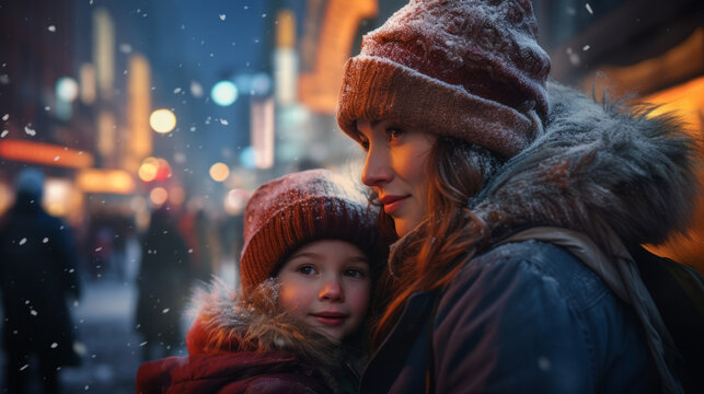
[[[137,392],[356,392],[377,256],[374,212],[326,170],[261,186],[245,209],[241,292],[201,294],[188,357],[142,364]]]

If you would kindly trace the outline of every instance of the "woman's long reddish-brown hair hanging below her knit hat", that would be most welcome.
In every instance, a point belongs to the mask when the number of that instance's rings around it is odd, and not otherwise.
[[[378,281],[370,333],[372,349],[381,345],[412,293],[448,285],[486,242],[487,229],[468,204],[500,163],[484,148],[447,137],[437,139],[427,159],[425,220],[409,240],[396,247],[389,260],[390,269]],[[372,202],[378,204],[376,196]],[[386,241],[396,236],[393,220],[383,209],[379,227]]]

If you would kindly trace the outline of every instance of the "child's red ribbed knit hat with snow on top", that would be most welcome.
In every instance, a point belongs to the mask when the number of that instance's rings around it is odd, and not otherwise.
[[[286,256],[316,240],[350,242],[374,263],[376,219],[377,211],[361,187],[327,170],[292,173],[265,183],[244,211],[243,292],[276,275]]]

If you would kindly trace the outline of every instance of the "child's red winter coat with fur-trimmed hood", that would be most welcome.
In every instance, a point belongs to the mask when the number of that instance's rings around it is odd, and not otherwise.
[[[262,289],[259,289],[262,290]],[[356,391],[341,345],[276,309],[264,289],[243,300],[216,289],[200,294],[186,335],[187,357],[143,363],[137,393],[335,393]]]

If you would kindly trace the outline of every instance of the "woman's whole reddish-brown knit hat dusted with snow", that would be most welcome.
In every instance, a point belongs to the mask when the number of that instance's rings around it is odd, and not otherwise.
[[[542,132],[547,54],[529,0],[412,0],[345,65],[337,123],[391,119],[510,158]]]

